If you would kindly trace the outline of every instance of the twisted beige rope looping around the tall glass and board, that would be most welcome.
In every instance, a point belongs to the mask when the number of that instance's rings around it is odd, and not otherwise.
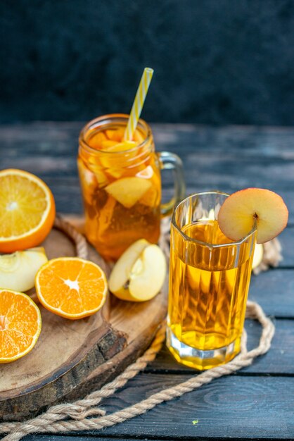
[[[65,223],[65,221],[61,221],[61,223],[59,222],[56,226],[65,230],[65,232],[72,237],[70,231],[67,229],[67,225],[69,224]],[[166,233],[166,228],[163,228],[163,230]],[[75,233],[77,232],[75,231]],[[79,233],[75,234],[75,241],[79,240],[78,235]],[[79,236],[82,237],[82,235]],[[165,250],[167,248],[165,248]],[[81,249],[79,249],[79,252],[83,252]],[[241,340],[241,352],[235,359],[229,361],[229,363],[217,366],[209,371],[204,371],[198,375],[193,375],[192,378],[183,383],[168,387],[165,390],[151,395],[151,397],[148,397],[147,399],[143,399],[139,403],[114,412],[113,414],[106,415],[106,411],[98,407],[101,399],[113,395],[117,389],[123,387],[129,379],[134,378],[134,376],[142,371],[148,363],[155,359],[156,354],[160,351],[162,343],[165,340],[164,322],[160,325],[151,347],[149,347],[133,364],[129,365],[123,373],[118,375],[110,383],[104,385],[101,390],[91,392],[91,394],[87,395],[84,399],[79,399],[73,403],[51,406],[51,408],[44,414],[22,423],[0,423],[0,433],[8,434],[2,439],[2,441],[18,441],[29,433],[64,433],[74,432],[76,430],[101,430],[102,428],[115,426],[117,423],[122,423],[129,418],[134,418],[134,416],[146,413],[148,410],[153,409],[153,407],[162,402],[181,397],[181,395],[184,395],[187,392],[191,392],[202,385],[210,383],[210,381],[215,378],[222,377],[223,375],[230,375],[241,368],[250,366],[255,357],[265,354],[269,350],[271,339],[274,336],[274,324],[269,318],[267,318],[267,316],[265,316],[262,308],[255,302],[248,302],[246,317],[258,320],[262,325],[260,342],[257,347],[248,352],[246,347],[247,334],[244,330]],[[98,416],[87,418],[93,415]]]

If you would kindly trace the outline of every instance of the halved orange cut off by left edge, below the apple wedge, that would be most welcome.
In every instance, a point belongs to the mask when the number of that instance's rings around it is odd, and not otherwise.
[[[20,359],[41,332],[41,313],[23,292],[0,290],[0,363]]]

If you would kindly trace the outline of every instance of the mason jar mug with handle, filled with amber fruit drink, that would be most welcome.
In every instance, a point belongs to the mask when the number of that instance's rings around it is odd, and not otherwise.
[[[129,116],[112,114],[91,120],[79,135],[77,166],[84,199],[85,232],[108,261],[145,238],[156,243],[160,218],[185,196],[179,156],[155,153],[149,125],[139,120],[133,142],[122,137]],[[174,196],[161,204],[160,170],[174,171]]]

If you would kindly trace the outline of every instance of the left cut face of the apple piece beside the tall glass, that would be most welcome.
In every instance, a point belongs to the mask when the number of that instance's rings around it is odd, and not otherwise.
[[[149,242],[145,239],[140,239],[134,242],[124,253],[120,256],[117,263],[113,267],[108,280],[108,286],[111,292],[116,297],[122,300],[129,300],[129,275],[132,271],[132,266],[139,258],[144,248],[148,246]]]

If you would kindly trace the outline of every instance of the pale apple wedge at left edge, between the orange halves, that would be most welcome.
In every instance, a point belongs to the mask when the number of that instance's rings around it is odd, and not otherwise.
[[[34,276],[48,261],[43,247],[0,256],[0,287],[24,292],[34,287]]]

